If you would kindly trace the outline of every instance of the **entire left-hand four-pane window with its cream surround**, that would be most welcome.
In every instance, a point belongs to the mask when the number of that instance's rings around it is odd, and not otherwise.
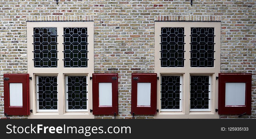
[[[93,118],[93,22],[27,22],[27,40],[29,118]]]

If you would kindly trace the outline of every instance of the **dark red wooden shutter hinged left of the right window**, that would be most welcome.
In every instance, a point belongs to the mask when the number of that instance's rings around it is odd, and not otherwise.
[[[138,83],[150,83],[150,86],[141,89],[149,89],[149,105],[137,105]],[[148,84],[149,85],[149,84]],[[142,90],[143,91],[143,90]],[[148,98],[148,97],[147,97]],[[157,73],[132,73],[131,74],[131,114],[156,114],[157,111]]]

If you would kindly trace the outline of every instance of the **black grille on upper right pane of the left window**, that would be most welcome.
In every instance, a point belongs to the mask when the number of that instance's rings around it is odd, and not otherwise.
[[[88,66],[86,27],[64,27],[64,67]]]

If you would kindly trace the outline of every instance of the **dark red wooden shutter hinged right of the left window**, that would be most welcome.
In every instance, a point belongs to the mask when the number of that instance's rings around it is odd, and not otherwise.
[[[112,83],[112,105],[100,105],[100,83]],[[93,114],[118,114],[118,73],[93,73]]]

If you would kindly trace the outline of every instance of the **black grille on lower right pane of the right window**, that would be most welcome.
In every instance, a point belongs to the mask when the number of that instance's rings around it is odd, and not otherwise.
[[[190,109],[209,108],[209,76],[190,77]]]

